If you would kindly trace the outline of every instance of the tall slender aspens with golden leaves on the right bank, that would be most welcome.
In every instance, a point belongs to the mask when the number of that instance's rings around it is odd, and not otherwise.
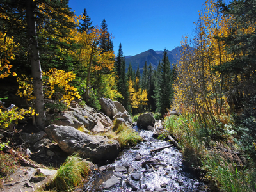
[[[205,10],[200,12],[196,23],[196,36],[193,47],[188,47],[188,37],[184,37],[182,57],[177,67],[177,79],[173,84],[175,90],[174,108],[183,113],[193,112],[197,118],[206,122],[222,113],[227,113],[228,104],[223,94],[225,76],[212,70],[213,66],[231,60],[223,42],[216,36],[228,35],[228,19],[218,13],[216,4],[206,1]],[[208,117],[206,117],[208,116]]]

